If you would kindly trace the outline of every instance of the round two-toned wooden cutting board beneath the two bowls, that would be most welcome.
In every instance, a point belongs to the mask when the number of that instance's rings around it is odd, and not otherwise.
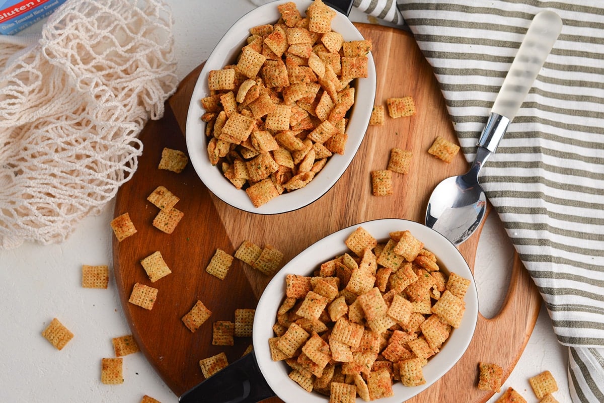
[[[243,240],[259,246],[271,244],[288,261],[304,248],[336,230],[377,218],[407,218],[423,223],[428,196],[445,177],[467,170],[461,153],[446,164],[426,150],[435,136],[457,142],[445,101],[431,66],[404,31],[356,24],[373,41],[377,69],[376,103],[388,97],[412,95],[417,114],[387,118],[383,126],[370,126],[367,135],[341,179],[315,203],[294,212],[258,215],[226,205],[205,188],[189,164],[180,174],[158,170],[164,147],[186,151],[184,126],[190,94],[201,66],[186,77],[167,103],[164,118],[151,121],[141,133],[143,155],[132,179],[117,195],[115,215],[128,212],[138,232],[118,243],[114,240],[114,273],[120,299],[141,351],[162,379],[180,396],[204,379],[199,360],[224,351],[230,362],[242,355],[251,338],[236,338],[233,347],[211,344],[212,324],[234,320],[234,309],[255,308],[269,278],[235,259],[223,281],[205,272],[217,248],[234,253]],[[411,172],[394,174],[394,195],[371,195],[370,171],[385,169],[391,148],[413,151]],[[184,218],[168,235],[152,226],[158,209],[146,200],[156,186],[164,185],[181,200],[176,208]],[[479,229],[459,247],[474,267]],[[151,283],[140,260],[159,250],[172,274]],[[439,382],[409,402],[484,402],[492,393],[476,387],[479,361],[498,363],[507,378],[528,341],[539,313],[541,298],[516,256],[504,306],[492,319],[480,316],[471,345],[455,367]],[[151,311],[128,303],[133,284],[158,288]],[[196,300],[212,316],[195,333],[181,322]],[[267,402],[280,402],[271,398]]]

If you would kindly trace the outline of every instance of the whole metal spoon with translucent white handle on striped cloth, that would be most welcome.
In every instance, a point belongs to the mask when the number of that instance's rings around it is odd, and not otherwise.
[[[471,168],[463,175],[443,180],[432,191],[426,226],[455,245],[467,240],[484,218],[486,196],[478,182],[478,172],[495,153],[561,30],[562,20],[553,11],[541,11],[533,17],[478,139]]]

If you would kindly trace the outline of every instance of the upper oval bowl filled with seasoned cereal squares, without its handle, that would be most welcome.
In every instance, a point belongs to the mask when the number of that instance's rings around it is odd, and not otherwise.
[[[194,170],[243,211],[317,200],[349,166],[376,92],[371,41],[321,0],[280,0],[237,21],[205,62],[185,135]]]

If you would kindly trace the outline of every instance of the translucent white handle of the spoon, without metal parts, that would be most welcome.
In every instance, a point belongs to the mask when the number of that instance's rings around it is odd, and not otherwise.
[[[492,112],[506,116],[510,121],[516,116],[561,30],[562,19],[553,11],[541,11],[533,17]]]

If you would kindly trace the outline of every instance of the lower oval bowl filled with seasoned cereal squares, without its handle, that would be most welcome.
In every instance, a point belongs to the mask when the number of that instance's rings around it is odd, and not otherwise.
[[[332,233],[278,271],[252,338],[286,403],[400,403],[457,363],[477,319],[457,248],[422,224],[384,219]]]

